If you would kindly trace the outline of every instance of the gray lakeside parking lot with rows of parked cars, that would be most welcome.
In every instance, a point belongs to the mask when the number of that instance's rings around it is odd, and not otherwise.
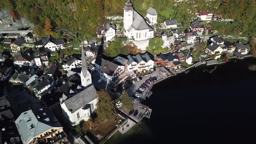
[[[159,71],[159,69],[156,69],[154,72],[152,72],[151,74],[149,75],[144,75],[144,76],[141,76],[142,77],[142,80],[140,81],[137,81],[135,82],[135,84],[131,85],[131,87],[129,87],[127,89],[127,92],[130,96],[133,96],[135,95],[135,92],[140,88],[140,86],[145,83],[145,81],[147,79],[149,79],[150,77],[157,77],[157,79],[162,79],[162,78],[165,78],[165,76]],[[150,85],[152,85],[153,83],[151,83]],[[140,98],[141,99],[144,99],[146,94],[148,93],[148,89],[144,90],[143,93],[140,95]]]

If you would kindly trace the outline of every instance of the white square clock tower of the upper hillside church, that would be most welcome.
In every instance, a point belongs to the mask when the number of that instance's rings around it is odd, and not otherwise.
[[[132,3],[130,0],[128,0],[125,3],[125,7],[123,9],[124,9],[124,28],[125,28],[125,30],[127,30],[133,23],[134,9],[132,7]]]

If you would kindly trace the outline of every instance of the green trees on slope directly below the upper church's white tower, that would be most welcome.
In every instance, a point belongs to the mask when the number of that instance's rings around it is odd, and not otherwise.
[[[115,57],[118,54],[128,55],[128,49],[125,49],[123,42],[126,38],[115,38],[115,41],[112,41],[108,47],[105,48],[104,54],[106,56]]]

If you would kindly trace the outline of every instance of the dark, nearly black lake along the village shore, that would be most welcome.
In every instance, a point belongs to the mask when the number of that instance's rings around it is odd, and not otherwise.
[[[153,109],[128,134],[106,144],[250,144],[256,135],[255,58],[200,66],[153,86]],[[215,69],[215,70],[214,70]]]

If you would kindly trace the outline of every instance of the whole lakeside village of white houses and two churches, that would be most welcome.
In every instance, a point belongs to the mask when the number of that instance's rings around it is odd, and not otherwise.
[[[3,143],[104,143],[115,132],[125,134],[143,118],[150,118],[154,110],[143,101],[152,94],[154,84],[199,65],[252,56],[249,44],[230,42],[237,38],[220,37],[218,29],[208,24],[225,21],[222,15],[206,10],[196,16],[181,31],[183,26],[175,18],[157,23],[154,8],[142,16],[128,0],[123,27],[109,21],[97,26],[97,37],[80,38],[78,43],[53,36],[38,39],[33,34],[36,28],[1,20],[6,28],[0,31],[1,45],[6,47],[0,53]],[[75,39],[67,30],[55,30]],[[106,56],[117,39],[125,39],[120,44],[137,51]],[[112,99],[114,109],[108,119],[95,116],[105,110],[101,95]]]

